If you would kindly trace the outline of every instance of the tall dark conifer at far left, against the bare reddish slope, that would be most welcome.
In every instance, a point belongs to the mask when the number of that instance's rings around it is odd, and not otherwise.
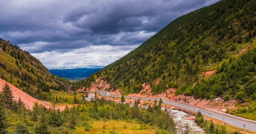
[[[10,109],[11,105],[13,103],[13,92],[12,92],[11,88],[9,87],[9,85],[7,84],[7,82],[4,85],[2,93],[4,95],[5,107],[7,109]]]

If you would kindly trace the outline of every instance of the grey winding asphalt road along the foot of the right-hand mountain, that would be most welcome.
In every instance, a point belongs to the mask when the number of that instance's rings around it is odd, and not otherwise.
[[[121,97],[120,95],[113,95],[110,94],[109,92],[106,91],[91,91],[91,92],[100,92],[101,96],[112,96],[112,97]],[[138,96],[125,96],[126,98],[131,98],[131,99],[141,99],[141,100],[157,100],[159,101],[160,98],[153,98],[153,97],[138,97]],[[228,124],[232,126],[236,126],[239,128],[243,128],[246,130],[252,130],[256,131],[256,121],[241,118],[241,117],[236,117],[227,113],[222,113],[219,111],[215,111],[212,109],[206,109],[202,107],[197,107],[193,105],[188,105],[188,104],[181,104],[175,101],[171,101],[168,99],[162,99],[163,103],[169,104],[169,105],[174,105],[183,109],[187,109],[190,111],[194,112],[201,112],[201,114],[206,115],[208,117],[213,117],[215,119],[227,122]]]

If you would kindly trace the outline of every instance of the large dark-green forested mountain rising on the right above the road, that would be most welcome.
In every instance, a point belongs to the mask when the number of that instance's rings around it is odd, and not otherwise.
[[[101,77],[126,95],[146,84],[154,93],[256,100],[255,26],[256,0],[219,1],[170,22],[80,86]]]

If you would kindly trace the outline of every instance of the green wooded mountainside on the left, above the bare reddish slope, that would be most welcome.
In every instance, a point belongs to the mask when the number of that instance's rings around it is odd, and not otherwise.
[[[67,91],[69,82],[52,75],[42,63],[19,46],[0,38],[0,77],[38,99],[47,100],[50,89]]]

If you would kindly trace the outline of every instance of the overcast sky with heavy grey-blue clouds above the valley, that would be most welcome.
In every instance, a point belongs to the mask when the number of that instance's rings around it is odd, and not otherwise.
[[[104,67],[218,0],[1,0],[0,38],[47,68]]]

